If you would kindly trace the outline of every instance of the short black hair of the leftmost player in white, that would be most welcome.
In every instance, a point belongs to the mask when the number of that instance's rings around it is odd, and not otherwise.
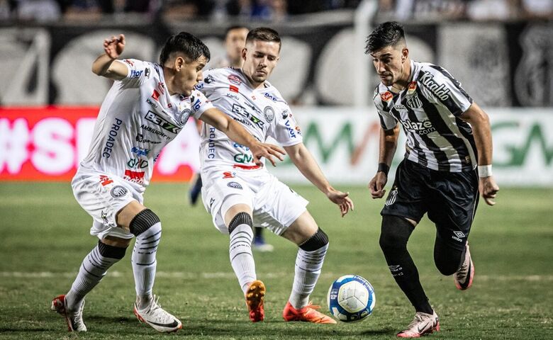
[[[209,48],[201,40],[190,33],[181,32],[170,36],[160,53],[160,64],[165,64],[172,52],[182,52],[190,60],[196,60],[202,55],[209,61]]]

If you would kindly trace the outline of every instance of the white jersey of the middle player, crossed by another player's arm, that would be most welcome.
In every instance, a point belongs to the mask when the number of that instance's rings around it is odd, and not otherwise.
[[[284,147],[302,142],[301,130],[288,103],[268,81],[263,88],[252,89],[242,70],[231,67],[210,69],[203,76],[196,89],[257,140],[265,142],[267,137],[272,137]],[[204,171],[219,165],[257,168],[249,148],[229,140],[223,132],[208,124],[204,124],[201,131],[200,150]]]

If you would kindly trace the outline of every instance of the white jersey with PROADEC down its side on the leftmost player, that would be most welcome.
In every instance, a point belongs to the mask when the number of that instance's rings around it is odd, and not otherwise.
[[[190,115],[199,118],[213,105],[196,89],[189,97],[170,96],[159,64],[121,62],[128,75],[115,81],[106,95],[80,166],[119,176],[143,192],[163,147],[177,137]]]

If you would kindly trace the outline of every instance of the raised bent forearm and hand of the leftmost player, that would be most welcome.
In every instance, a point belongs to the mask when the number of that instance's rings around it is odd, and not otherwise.
[[[121,62],[113,62],[125,50],[125,35],[118,37],[113,35],[104,40],[104,54],[94,60],[92,63],[92,72],[99,76],[113,80],[121,80],[127,77],[128,69]]]

